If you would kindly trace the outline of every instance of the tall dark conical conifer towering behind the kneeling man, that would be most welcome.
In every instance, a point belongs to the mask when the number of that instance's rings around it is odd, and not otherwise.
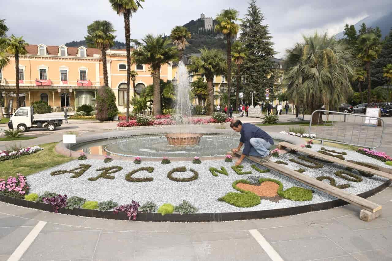
[[[274,62],[271,58],[276,54],[273,48],[269,25],[263,25],[263,13],[257,6],[256,0],[249,2],[248,13],[242,21],[240,42],[248,50],[247,59],[241,65],[242,75],[247,80],[244,85],[244,96],[251,97],[256,92],[260,97],[265,96],[265,89],[270,89],[273,96]],[[270,99],[273,98],[270,96]]]

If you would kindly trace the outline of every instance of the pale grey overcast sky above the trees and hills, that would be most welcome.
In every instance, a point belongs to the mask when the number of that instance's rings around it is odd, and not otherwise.
[[[269,24],[275,50],[281,58],[286,48],[301,40],[301,34],[315,30],[336,34],[344,25],[355,24],[368,15],[391,11],[390,0],[274,0],[258,5]],[[190,20],[215,17],[221,9],[234,8],[242,18],[247,13],[247,0],[145,0],[131,18],[131,38],[145,34],[170,34],[176,25]],[[87,25],[94,20],[109,20],[117,30],[116,40],[125,42],[123,18],[112,11],[108,0],[2,0],[0,19],[7,19],[9,35],[23,36],[29,44],[61,45],[83,40]]]

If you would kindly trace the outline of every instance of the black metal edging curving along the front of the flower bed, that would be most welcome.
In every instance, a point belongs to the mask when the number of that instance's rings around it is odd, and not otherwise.
[[[391,181],[383,183],[382,185],[358,194],[361,198],[368,198],[377,194],[378,192],[384,190],[391,184]],[[5,203],[10,203],[13,205],[34,208],[39,210],[45,210],[52,212],[51,205],[45,203],[34,203],[33,201],[27,201],[24,199],[11,198],[9,196],[0,195],[0,201]],[[158,213],[139,213],[137,216],[137,221],[154,221],[154,222],[212,222],[212,221],[234,221],[234,220],[244,220],[244,219],[263,219],[269,217],[281,217],[281,216],[291,216],[297,214],[303,214],[307,212],[326,210],[329,208],[340,207],[347,205],[348,203],[342,199],[336,199],[332,201],[327,201],[323,203],[316,203],[298,207],[290,208],[278,208],[270,210],[258,210],[258,211],[247,211],[247,212],[223,212],[223,213],[200,213],[200,214],[166,214],[162,216]],[[104,219],[118,219],[118,220],[128,220],[127,214],[125,212],[118,212],[114,214],[113,211],[99,211],[84,208],[74,208],[60,209],[59,213],[68,214],[73,216],[84,216],[84,217],[96,217]]]

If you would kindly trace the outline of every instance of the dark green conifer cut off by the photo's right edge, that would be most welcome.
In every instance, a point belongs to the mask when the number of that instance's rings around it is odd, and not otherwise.
[[[383,68],[392,61],[392,28],[389,31],[383,49],[378,55],[378,59],[372,62],[372,86],[381,86],[388,82],[387,78],[383,76]]]

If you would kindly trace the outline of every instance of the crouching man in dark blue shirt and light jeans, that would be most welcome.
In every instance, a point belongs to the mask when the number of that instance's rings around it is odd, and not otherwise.
[[[236,162],[236,166],[240,165],[246,155],[261,157],[261,162],[267,163],[271,158],[270,147],[274,144],[271,136],[259,127],[250,124],[242,123],[240,120],[233,120],[230,127],[241,133],[240,144],[238,148],[232,149],[237,152],[245,145],[241,158]]]

